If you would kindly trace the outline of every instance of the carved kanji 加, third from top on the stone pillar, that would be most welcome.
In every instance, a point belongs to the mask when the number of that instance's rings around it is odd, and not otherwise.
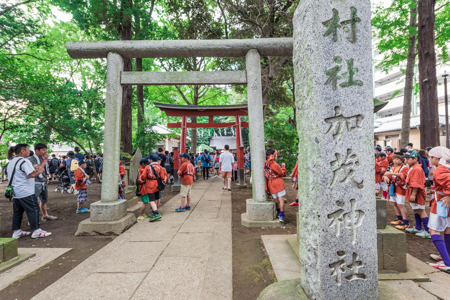
[[[342,114],[342,108],[340,106],[334,107],[334,116],[326,118],[325,122],[330,124],[330,127],[326,133],[334,132],[333,138],[338,141],[341,138],[344,128],[347,128],[348,133],[361,130],[364,116],[361,114],[354,116],[344,116]]]

